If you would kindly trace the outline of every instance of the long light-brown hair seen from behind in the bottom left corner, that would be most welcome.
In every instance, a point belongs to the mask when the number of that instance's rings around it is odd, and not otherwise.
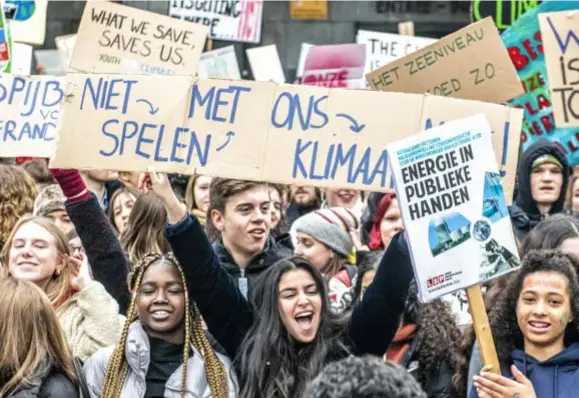
[[[0,342],[0,397],[53,370],[77,383],[54,309],[33,283],[0,278]]]

